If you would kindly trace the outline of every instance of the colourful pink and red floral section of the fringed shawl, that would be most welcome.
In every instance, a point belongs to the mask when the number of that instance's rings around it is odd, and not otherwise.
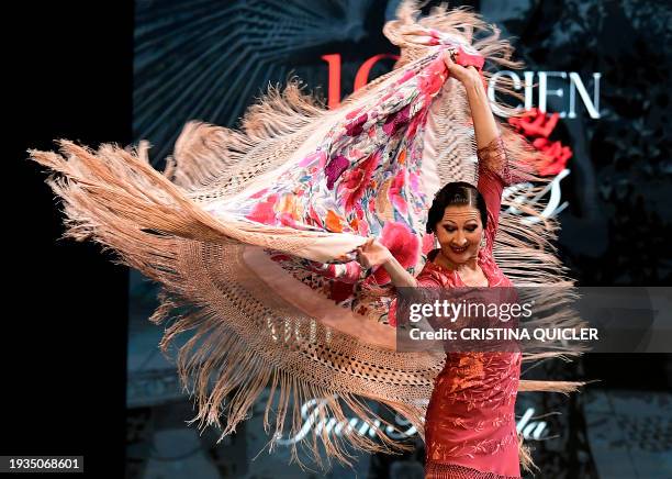
[[[434,241],[425,233],[432,199],[422,185],[422,134],[428,107],[447,75],[438,55],[407,67],[371,104],[348,111],[295,168],[242,200],[242,211],[248,211],[245,218],[267,225],[377,236],[413,272]],[[361,275],[357,263],[321,264],[269,254],[312,288],[366,313],[352,286]],[[366,281],[385,285],[390,277],[379,268]]]

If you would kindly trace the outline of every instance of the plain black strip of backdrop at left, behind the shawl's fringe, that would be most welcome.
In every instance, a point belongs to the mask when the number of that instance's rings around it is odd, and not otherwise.
[[[0,454],[83,455],[87,477],[121,478],[127,269],[94,244],[58,241],[63,216],[26,149],[131,142],[133,3],[18,2],[2,33]]]

